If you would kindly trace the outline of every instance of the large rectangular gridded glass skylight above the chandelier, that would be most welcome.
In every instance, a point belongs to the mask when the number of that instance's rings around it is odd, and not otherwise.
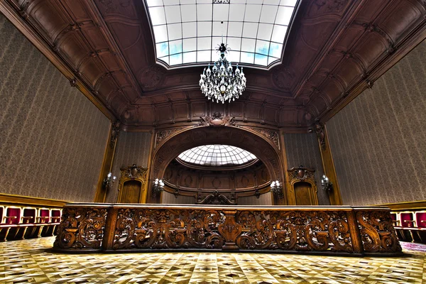
[[[158,60],[169,66],[214,62],[222,35],[231,62],[266,67],[280,60],[298,0],[213,2],[146,0]]]

